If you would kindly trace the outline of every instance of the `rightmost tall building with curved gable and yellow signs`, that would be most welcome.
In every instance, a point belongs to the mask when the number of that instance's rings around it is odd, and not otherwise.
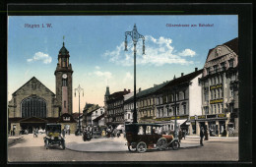
[[[238,135],[238,38],[209,50],[204,66],[202,115],[198,126],[206,126],[211,136]]]

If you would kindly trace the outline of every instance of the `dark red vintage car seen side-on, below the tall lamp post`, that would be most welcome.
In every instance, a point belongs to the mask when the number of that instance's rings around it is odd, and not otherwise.
[[[168,149],[172,147],[178,149],[180,143],[178,139],[174,139],[172,135],[161,135],[158,133],[159,124],[126,124],[125,132],[128,149],[131,152],[145,152],[147,149],[158,148]]]

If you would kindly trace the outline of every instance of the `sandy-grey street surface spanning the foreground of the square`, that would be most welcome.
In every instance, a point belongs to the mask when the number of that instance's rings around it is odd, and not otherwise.
[[[55,147],[45,149],[43,146],[44,135],[32,138],[25,135],[12,143],[8,148],[9,162],[47,162],[47,161],[237,161],[238,139],[209,139],[204,146],[180,148],[179,150],[148,150],[145,153],[131,153],[128,149],[118,152],[81,152],[69,149],[62,150]],[[71,136],[66,136],[66,142],[71,143]],[[73,142],[82,142],[82,137],[76,137]],[[100,146],[102,143],[111,143],[116,139],[92,139],[86,141]],[[124,139],[118,142],[125,143]],[[182,143],[196,143],[198,138],[186,138]],[[88,144],[87,143],[87,144]],[[100,143],[100,145],[96,144]],[[109,145],[108,145],[109,146]],[[113,145],[114,146],[114,145]],[[196,153],[195,153],[196,152]]]

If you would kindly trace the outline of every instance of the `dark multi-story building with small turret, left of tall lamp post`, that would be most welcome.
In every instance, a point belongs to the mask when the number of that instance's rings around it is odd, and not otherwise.
[[[108,89],[109,92],[109,89]],[[117,91],[109,95],[105,95],[105,124],[116,128],[118,125],[124,124],[124,95],[130,93],[130,89]]]

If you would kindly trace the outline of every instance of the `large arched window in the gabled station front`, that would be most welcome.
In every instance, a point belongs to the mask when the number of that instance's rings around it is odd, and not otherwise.
[[[21,103],[22,118],[46,117],[46,102],[43,98],[32,96],[24,99]]]

